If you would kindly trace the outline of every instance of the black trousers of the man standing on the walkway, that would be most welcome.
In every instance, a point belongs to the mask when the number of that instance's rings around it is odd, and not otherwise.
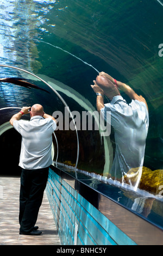
[[[20,231],[33,230],[46,188],[49,167],[22,169],[20,187]]]

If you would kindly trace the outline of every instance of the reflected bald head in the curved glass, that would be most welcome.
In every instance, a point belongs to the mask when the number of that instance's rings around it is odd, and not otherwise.
[[[105,95],[111,100],[114,96],[121,95],[118,88],[105,76],[97,76],[96,83],[104,91]]]

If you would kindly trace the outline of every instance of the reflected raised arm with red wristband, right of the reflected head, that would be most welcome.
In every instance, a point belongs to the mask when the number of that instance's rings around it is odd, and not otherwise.
[[[106,78],[108,78],[112,83],[116,84],[116,86],[118,87],[118,89],[122,90],[122,92],[126,93],[131,100],[139,100],[142,101],[146,104],[147,106],[147,102],[145,100],[144,97],[142,97],[141,95],[137,95],[137,93],[134,92],[133,89],[131,89],[131,87],[129,87],[127,84],[122,83],[120,81],[116,81],[115,83],[115,79],[112,78],[110,75],[106,74],[105,72],[100,72],[99,76],[105,76]],[[148,109],[148,106],[147,106]]]

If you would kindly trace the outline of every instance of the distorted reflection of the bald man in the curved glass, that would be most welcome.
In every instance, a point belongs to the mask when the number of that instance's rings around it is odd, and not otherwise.
[[[115,179],[120,179],[131,168],[143,165],[149,123],[147,103],[129,86],[114,80],[104,72],[99,73],[96,81],[93,82],[95,84],[91,87],[97,94],[97,110],[101,111],[104,117],[106,111],[111,112],[116,152],[110,174]],[[130,104],[123,99],[119,89],[130,97]],[[104,94],[109,98],[110,103],[104,104]]]

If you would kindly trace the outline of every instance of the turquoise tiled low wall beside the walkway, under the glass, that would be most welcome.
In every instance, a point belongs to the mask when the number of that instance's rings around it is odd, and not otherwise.
[[[46,192],[62,245],[136,245],[52,169]]]

